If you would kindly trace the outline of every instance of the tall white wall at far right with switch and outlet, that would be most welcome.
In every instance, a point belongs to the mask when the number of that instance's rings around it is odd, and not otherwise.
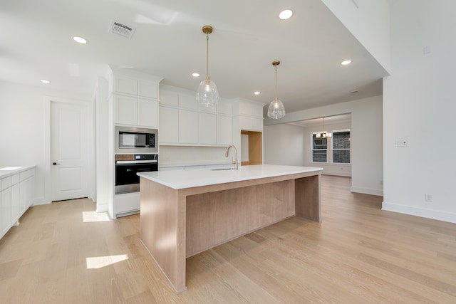
[[[383,82],[383,209],[454,223],[455,11],[456,1],[396,1],[393,70]]]

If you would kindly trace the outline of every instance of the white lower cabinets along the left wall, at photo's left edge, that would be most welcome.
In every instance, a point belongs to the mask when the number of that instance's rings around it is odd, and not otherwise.
[[[19,225],[19,218],[33,203],[35,169],[0,180],[0,239]]]

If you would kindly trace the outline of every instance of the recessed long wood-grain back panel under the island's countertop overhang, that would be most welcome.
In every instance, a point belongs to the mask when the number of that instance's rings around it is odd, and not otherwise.
[[[187,257],[294,216],[294,182],[187,196]]]

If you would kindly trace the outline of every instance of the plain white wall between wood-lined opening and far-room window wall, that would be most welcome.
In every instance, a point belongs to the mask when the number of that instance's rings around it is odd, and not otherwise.
[[[265,125],[264,164],[304,166],[304,128],[295,125]]]

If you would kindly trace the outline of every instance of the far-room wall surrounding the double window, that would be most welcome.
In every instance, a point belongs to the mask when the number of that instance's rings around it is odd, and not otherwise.
[[[312,152],[311,152],[311,140],[312,134],[314,132],[328,131],[332,132],[333,130],[345,130],[351,129],[351,122],[338,122],[333,124],[325,123],[325,128],[323,130],[323,125],[313,125],[304,128],[304,165],[308,167],[321,167],[323,172],[321,174],[328,175],[339,175],[342,177],[351,177],[351,164],[324,164],[312,162]]]

